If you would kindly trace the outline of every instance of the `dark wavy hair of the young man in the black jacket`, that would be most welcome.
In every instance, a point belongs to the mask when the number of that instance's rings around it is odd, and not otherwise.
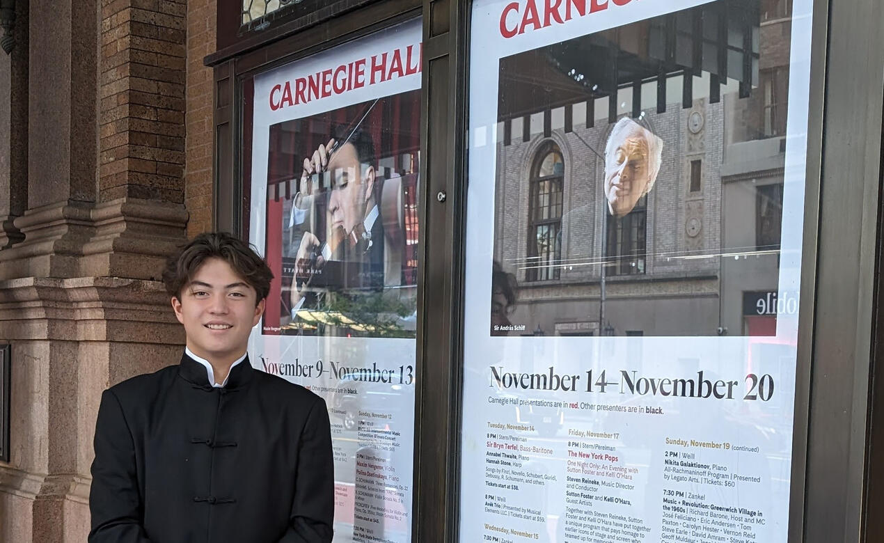
[[[248,243],[225,232],[201,233],[172,255],[163,271],[163,282],[170,296],[181,299],[194,274],[209,258],[224,260],[257,293],[256,302],[271,291],[273,272]]]

